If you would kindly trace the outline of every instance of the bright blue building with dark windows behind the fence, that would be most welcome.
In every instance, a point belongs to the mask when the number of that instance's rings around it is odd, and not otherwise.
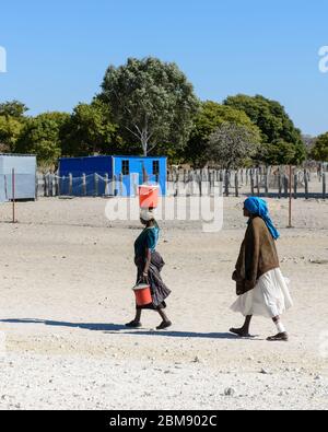
[[[166,195],[167,159],[163,156],[61,157],[58,171],[60,195],[132,197],[143,184],[143,172]]]

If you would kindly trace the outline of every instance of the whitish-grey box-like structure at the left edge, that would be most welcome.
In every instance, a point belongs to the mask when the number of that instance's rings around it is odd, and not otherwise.
[[[14,170],[15,199],[36,199],[36,156],[0,154],[0,201],[12,199]]]

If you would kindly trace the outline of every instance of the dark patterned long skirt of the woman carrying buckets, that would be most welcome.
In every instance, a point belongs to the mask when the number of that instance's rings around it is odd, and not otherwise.
[[[138,269],[137,283],[140,282],[144,270],[144,258],[136,257],[134,264]],[[165,299],[171,294],[171,290],[162,280],[161,271],[165,262],[157,252],[152,253],[151,262],[149,267],[148,278],[152,294],[152,303],[145,306],[137,306],[138,310],[163,310],[166,307]]]

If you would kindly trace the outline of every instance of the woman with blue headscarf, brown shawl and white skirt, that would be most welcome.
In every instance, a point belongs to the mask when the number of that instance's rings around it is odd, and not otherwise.
[[[251,317],[265,316],[271,318],[278,329],[278,334],[267,340],[288,341],[289,335],[280,316],[293,303],[276,248],[280,234],[265,200],[248,198],[244,203],[244,215],[248,218],[248,226],[233,273],[238,299],[232,310],[242,313],[246,319],[242,328],[232,328],[231,332],[249,337]]]

